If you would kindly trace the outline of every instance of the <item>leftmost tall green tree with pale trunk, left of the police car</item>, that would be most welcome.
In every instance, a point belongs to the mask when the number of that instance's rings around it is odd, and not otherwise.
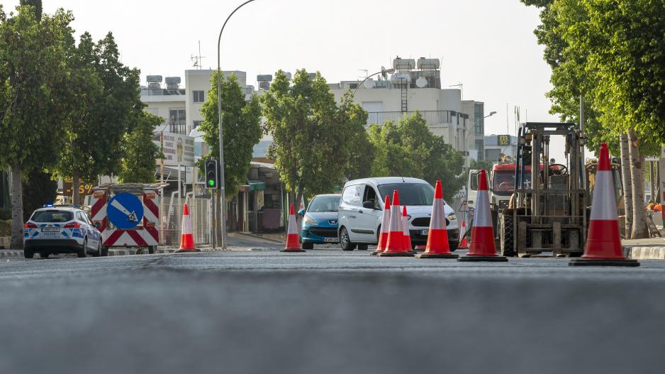
[[[52,165],[65,141],[69,94],[67,50],[72,13],[35,16],[19,6],[9,17],[0,7],[0,165],[12,175],[11,246],[23,248],[24,170]]]

